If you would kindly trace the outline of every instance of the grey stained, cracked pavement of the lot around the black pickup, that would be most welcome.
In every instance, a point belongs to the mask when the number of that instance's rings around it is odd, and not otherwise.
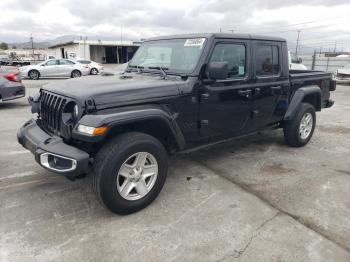
[[[91,176],[38,166],[16,141],[26,99],[0,103],[0,261],[350,261],[350,87],[332,95],[306,147],[275,130],[172,157],[129,216],[99,205]]]

